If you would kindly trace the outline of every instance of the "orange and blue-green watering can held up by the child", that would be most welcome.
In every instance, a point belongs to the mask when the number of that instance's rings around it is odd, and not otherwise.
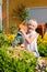
[[[13,41],[12,45],[15,47],[17,44],[22,44],[24,42],[24,37],[23,34],[20,32],[20,29],[23,29],[25,32],[26,32],[26,25],[25,25],[25,22],[21,23],[19,25],[19,32],[17,34],[15,35],[15,40]]]

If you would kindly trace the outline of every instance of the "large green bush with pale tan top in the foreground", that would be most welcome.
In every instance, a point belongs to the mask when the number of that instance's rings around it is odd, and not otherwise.
[[[35,72],[36,58],[33,53],[14,48],[0,48],[0,72]]]

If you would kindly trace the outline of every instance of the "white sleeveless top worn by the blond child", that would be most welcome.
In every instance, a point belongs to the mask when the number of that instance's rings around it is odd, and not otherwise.
[[[35,35],[35,31],[33,31],[32,33],[28,33],[27,37],[31,38],[32,35]],[[32,43],[27,43],[26,40],[24,41],[24,47],[26,50],[28,51],[33,51],[36,52],[37,51],[37,37],[33,40]]]

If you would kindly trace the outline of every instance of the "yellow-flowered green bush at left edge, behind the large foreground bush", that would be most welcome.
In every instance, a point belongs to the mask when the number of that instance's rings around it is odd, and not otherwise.
[[[11,45],[13,40],[14,40],[15,35],[14,34],[3,34],[3,33],[0,33],[0,48],[2,45]]]

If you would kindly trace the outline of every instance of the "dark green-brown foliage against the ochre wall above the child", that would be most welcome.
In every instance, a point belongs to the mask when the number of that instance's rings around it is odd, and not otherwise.
[[[17,9],[13,9],[14,17],[19,18],[21,21],[24,21],[28,18],[28,10],[24,4],[17,6]]]

